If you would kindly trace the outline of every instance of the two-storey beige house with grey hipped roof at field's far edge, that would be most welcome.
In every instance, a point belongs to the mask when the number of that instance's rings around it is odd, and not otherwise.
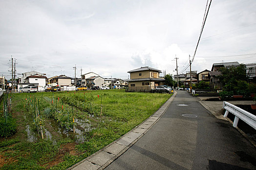
[[[150,67],[141,67],[128,71],[129,88],[150,90],[155,86],[164,85],[165,79],[159,77],[161,70]]]

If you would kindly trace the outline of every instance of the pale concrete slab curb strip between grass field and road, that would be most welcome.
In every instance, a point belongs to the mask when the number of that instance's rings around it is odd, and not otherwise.
[[[125,153],[134,143],[136,143],[149,129],[163,116],[177,92],[174,91],[168,99],[153,115],[141,124],[130,130],[124,136],[108,144],[96,153],[86,157],[67,170],[103,170],[115,159]]]

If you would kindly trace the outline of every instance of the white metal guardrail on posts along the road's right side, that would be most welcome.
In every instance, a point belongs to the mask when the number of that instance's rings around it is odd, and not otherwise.
[[[246,122],[247,124],[249,124],[251,127],[253,127],[254,129],[256,129],[256,116],[229,103],[229,102],[225,102],[223,101],[223,109],[226,110],[225,114],[224,114],[224,118],[226,118],[230,113],[232,113],[233,115],[235,115],[235,120],[233,122],[233,127],[237,127],[237,123],[239,119],[242,119],[244,122]]]

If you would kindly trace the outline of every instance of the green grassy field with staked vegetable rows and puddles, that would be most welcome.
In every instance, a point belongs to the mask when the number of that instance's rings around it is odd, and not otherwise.
[[[66,169],[126,134],[170,97],[124,90],[13,94],[9,117],[17,130],[0,138],[0,169]]]

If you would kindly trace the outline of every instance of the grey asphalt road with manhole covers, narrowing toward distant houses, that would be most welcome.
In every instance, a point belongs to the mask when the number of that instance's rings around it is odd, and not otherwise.
[[[158,122],[105,170],[256,170],[256,149],[230,122],[177,92]]]

